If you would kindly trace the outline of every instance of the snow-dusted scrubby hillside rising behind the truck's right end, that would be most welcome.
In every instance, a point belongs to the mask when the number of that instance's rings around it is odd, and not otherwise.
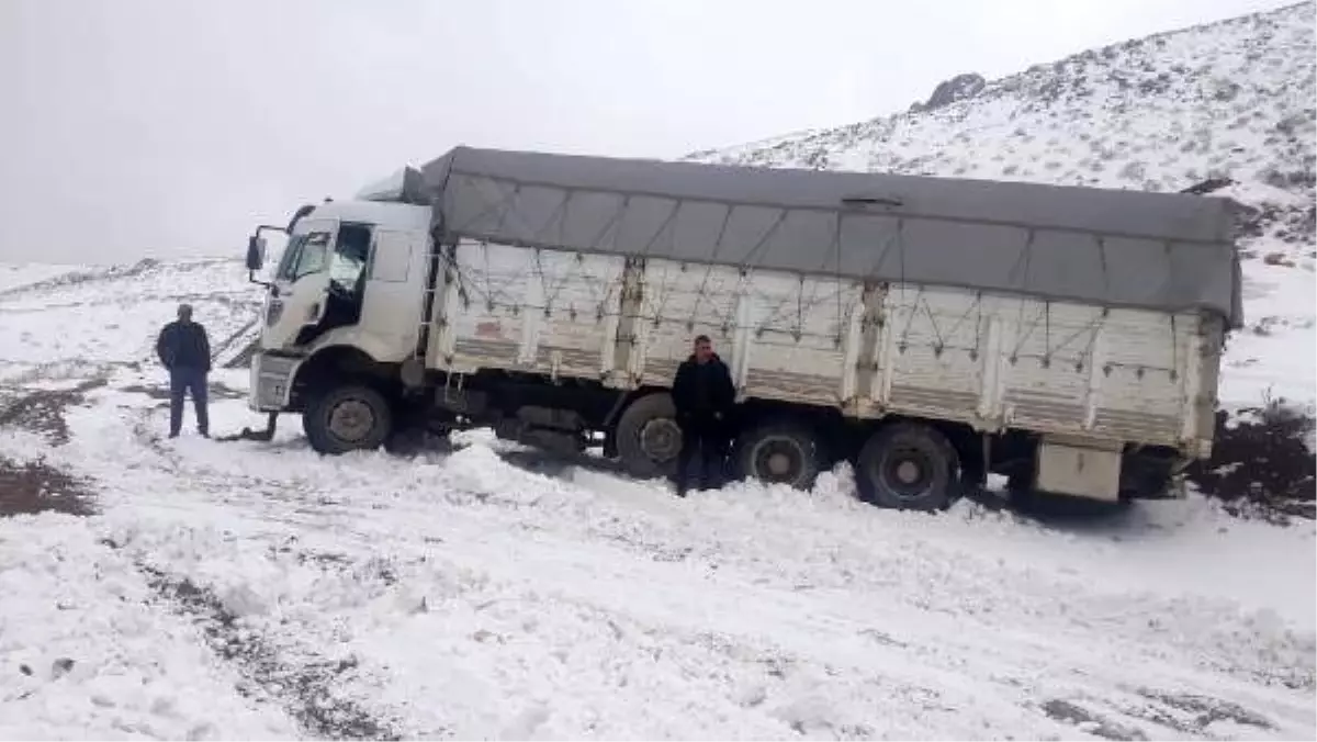
[[[691,159],[1179,191],[1209,178],[1246,220],[1246,316],[1227,401],[1317,401],[1317,3],[948,80],[906,113]]]

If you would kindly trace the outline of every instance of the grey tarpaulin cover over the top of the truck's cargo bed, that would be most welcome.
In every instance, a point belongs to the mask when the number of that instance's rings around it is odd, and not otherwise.
[[[470,148],[421,175],[445,241],[1243,319],[1227,199]]]

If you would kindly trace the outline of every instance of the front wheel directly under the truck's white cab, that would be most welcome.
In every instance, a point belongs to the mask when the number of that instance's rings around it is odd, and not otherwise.
[[[307,405],[302,427],[319,453],[374,451],[392,432],[394,416],[385,395],[369,386],[340,386]]]

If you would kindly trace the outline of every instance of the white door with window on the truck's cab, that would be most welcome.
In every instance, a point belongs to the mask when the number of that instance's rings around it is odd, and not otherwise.
[[[287,348],[307,326],[324,316],[329,264],[338,221],[303,219],[279,260],[274,286],[266,297],[265,348]]]

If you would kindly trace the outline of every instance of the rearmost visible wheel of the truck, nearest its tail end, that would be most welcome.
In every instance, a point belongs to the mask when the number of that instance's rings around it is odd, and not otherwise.
[[[896,423],[878,430],[856,463],[860,497],[896,510],[946,510],[960,497],[960,456],[936,428]]]

